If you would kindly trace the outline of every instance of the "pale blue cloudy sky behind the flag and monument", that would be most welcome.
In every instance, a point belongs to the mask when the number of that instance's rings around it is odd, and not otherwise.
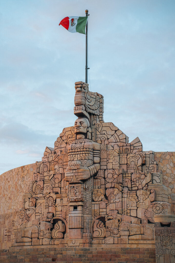
[[[104,121],[143,150],[175,151],[174,0],[0,0],[0,174],[40,161],[73,126],[75,82],[85,81],[85,35],[59,22],[88,22],[89,90]]]

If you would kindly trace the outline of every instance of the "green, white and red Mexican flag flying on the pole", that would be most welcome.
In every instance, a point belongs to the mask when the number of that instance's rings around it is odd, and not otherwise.
[[[61,20],[59,26],[65,27],[71,33],[85,34],[85,27],[88,17],[65,17]]]

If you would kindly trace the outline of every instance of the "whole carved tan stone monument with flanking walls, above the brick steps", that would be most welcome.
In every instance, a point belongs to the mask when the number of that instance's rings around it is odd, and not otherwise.
[[[103,96],[76,82],[73,126],[63,129],[54,148],[46,147],[42,161],[14,169],[8,179],[17,178],[13,194],[2,189],[1,248],[127,244],[156,247],[157,262],[174,262],[175,154],[155,159],[138,137],[129,143],[104,122],[103,112]]]

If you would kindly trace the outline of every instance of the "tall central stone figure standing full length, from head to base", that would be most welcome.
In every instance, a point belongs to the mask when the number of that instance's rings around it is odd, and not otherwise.
[[[74,132],[75,140],[68,146],[68,166],[65,171],[65,180],[69,182],[69,237],[75,236],[76,229],[77,238],[91,238],[92,178],[100,168],[100,144],[89,139],[91,127],[86,118],[79,117],[75,121]],[[82,224],[77,227],[76,222],[79,220]]]

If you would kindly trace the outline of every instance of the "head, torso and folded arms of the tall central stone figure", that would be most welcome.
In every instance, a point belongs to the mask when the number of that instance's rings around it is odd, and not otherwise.
[[[100,168],[100,144],[89,140],[91,127],[88,119],[77,119],[74,128],[76,139],[68,147],[68,167],[65,172],[65,180],[72,183],[89,179]]]

